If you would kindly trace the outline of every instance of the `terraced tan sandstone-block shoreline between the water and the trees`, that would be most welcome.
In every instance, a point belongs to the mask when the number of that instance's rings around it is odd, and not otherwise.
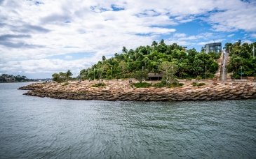
[[[191,86],[186,82],[177,88],[133,88],[127,80],[110,80],[106,86],[92,87],[95,82],[71,82],[67,85],[48,82],[34,83],[20,89],[30,90],[27,96],[39,96],[68,100],[238,100],[256,98],[256,83],[228,82],[207,83],[205,86]]]

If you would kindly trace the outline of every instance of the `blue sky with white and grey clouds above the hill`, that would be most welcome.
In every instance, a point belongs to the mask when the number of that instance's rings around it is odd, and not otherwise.
[[[156,40],[196,48],[256,41],[256,0],[0,0],[0,74],[74,77]]]

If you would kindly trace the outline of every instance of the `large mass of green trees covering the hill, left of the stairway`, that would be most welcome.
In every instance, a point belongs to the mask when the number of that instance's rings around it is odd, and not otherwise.
[[[136,77],[140,82],[147,78],[147,73],[163,73],[164,79],[173,82],[175,78],[213,77],[218,69],[216,59],[220,54],[186,50],[173,43],[166,45],[154,41],[151,46],[140,46],[135,50],[123,47],[121,54],[98,61],[90,68],[80,72],[81,79],[112,79]]]

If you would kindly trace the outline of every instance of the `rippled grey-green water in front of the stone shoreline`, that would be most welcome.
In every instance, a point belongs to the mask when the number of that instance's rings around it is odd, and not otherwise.
[[[256,100],[107,102],[0,84],[0,158],[256,158]]]

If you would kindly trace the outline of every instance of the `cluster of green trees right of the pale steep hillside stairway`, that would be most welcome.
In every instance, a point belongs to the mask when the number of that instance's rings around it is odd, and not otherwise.
[[[255,47],[256,56],[256,42],[243,43],[238,40],[236,43],[226,43],[226,51],[229,52],[230,60],[227,66],[228,73],[232,73],[235,79],[245,76],[256,76],[256,59],[253,59],[253,46]]]

